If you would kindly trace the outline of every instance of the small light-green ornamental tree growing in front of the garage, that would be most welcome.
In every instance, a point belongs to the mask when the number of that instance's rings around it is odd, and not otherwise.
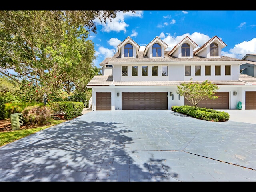
[[[180,86],[177,86],[177,94],[184,96],[195,108],[197,107],[198,102],[203,99],[217,99],[218,96],[214,96],[218,86],[212,84],[211,81],[205,80],[201,84],[193,82],[192,78],[188,83],[182,83]]]

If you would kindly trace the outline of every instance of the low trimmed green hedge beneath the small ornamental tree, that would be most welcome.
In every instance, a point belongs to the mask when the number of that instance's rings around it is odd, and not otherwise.
[[[224,111],[216,111],[208,108],[195,108],[194,106],[172,106],[172,110],[194,118],[206,121],[228,121],[230,115]]]

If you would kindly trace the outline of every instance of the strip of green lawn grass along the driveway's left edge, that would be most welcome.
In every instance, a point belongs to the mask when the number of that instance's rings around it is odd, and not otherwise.
[[[34,128],[29,129],[20,129],[20,130],[12,130],[7,132],[0,132],[0,147],[4,146],[8,143],[14,142],[16,140],[19,140],[21,138],[24,138],[26,136],[29,136],[33,133],[36,133],[38,131],[41,131],[43,129],[46,129],[48,127],[60,124],[62,122],[65,122],[66,120],[50,120],[50,125],[47,126],[36,126]]]

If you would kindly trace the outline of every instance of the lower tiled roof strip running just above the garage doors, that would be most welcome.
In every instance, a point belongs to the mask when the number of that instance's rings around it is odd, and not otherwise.
[[[102,76],[97,75],[90,80],[87,86],[108,86],[108,85],[115,85],[115,86],[155,86],[155,85],[180,85],[183,82],[189,81],[114,81],[113,76]],[[202,83],[203,81],[198,81]],[[248,76],[245,74],[240,75],[240,80],[234,81],[211,81],[213,84],[216,85],[244,85],[246,83],[256,84],[256,78],[252,76]]]

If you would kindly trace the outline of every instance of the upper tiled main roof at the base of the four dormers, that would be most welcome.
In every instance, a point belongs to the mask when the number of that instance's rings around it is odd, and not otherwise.
[[[119,53],[114,54],[113,57],[108,57],[104,59],[100,65],[108,64],[109,62],[180,62],[180,61],[241,61],[245,62],[246,60],[222,56],[221,58],[204,58],[194,55],[194,58],[176,58],[174,56],[169,56],[170,51],[164,52],[164,58],[149,58],[148,56],[143,56],[143,51],[138,52],[137,58],[121,58]]]

